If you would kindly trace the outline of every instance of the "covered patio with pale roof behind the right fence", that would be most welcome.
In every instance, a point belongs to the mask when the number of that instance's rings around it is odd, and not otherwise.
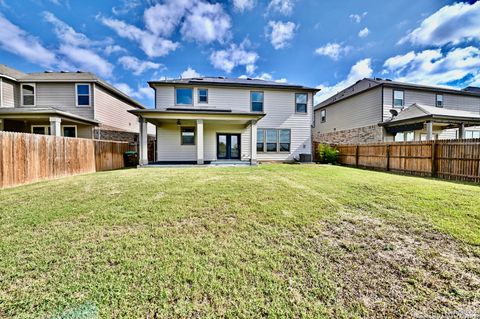
[[[398,134],[404,134],[404,141],[465,138],[468,127],[480,126],[480,113],[420,104],[392,115],[390,120],[378,124],[385,129],[386,141],[397,141]]]

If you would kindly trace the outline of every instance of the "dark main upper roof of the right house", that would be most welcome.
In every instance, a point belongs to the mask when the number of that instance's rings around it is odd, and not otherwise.
[[[360,93],[366,92],[368,90],[371,90],[380,86],[398,88],[398,89],[411,89],[411,90],[421,90],[421,91],[432,91],[432,92],[438,92],[438,93],[449,93],[449,94],[456,94],[456,95],[466,95],[466,96],[474,96],[474,97],[480,98],[480,88],[475,88],[475,87],[468,87],[463,90],[457,90],[457,89],[452,89],[452,88],[442,87],[442,86],[398,82],[398,81],[392,81],[389,79],[364,78],[362,80],[358,80],[357,82],[343,89],[337,94],[332,95],[326,100],[320,102],[315,106],[314,109],[317,110],[317,109],[329,106],[331,104],[337,103],[349,97],[358,95]]]

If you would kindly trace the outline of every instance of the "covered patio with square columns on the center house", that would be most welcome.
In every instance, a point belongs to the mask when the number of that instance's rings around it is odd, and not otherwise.
[[[147,123],[156,127],[154,164],[257,163],[257,121],[265,116],[262,112],[185,108],[129,112],[140,122],[140,165],[149,164]]]

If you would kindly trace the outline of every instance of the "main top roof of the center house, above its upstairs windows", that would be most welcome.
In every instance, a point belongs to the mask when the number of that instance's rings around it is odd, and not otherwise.
[[[320,89],[307,87],[303,85],[296,85],[284,82],[266,81],[253,78],[226,78],[226,77],[197,77],[187,79],[171,79],[160,81],[149,81],[150,86],[154,85],[213,85],[213,86],[239,86],[239,87],[259,87],[259,88],[276,88],[276,89],[291,89],[291,90],[305,90],[318,92]]]

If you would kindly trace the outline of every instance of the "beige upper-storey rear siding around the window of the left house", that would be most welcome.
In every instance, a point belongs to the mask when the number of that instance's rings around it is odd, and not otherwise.
[[[91,91],[93,92],[93,84]],[[76,106],[75,83],[42,83],[37,82],[36,107],[53,107],[58,110],[93,119],[93,106]],[[93,101],[93,96],[91,96]],[[95,103],[92,103],[95,104]]]

